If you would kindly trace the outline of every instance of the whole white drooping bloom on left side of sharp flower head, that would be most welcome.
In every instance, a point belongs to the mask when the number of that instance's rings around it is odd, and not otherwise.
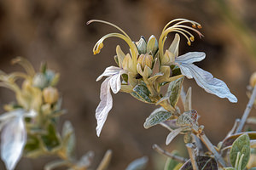
[[[102,132],[102,127],[107,120],[108,112],[112,109],[113,99],[111,96],[110,88],[112,89],[113,94],[117,94],[121,89],[121,75],[124,74],[125,71],[119,67],[109,66],[102,73],[100,77],[96,79],[99,81],[102,77],[108,77],[102,82],[101,86],[101,102],[96,108],[96,134],[100,136]]]

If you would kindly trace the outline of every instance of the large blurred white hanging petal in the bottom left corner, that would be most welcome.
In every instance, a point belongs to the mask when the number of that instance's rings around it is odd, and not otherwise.
[[[23,116],[9,121],[1,134],[1,157],[8,170],[15,169],[26,144],[26,127]]]

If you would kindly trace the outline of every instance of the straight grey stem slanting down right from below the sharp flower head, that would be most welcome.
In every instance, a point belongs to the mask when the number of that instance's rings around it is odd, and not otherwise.
[[[220,163],[222,167],[226,167],[226,163],[222,156],[219,155],[218,151],[215,150],[213,144],[211,141],[207,138],[207,135],[205,133],[197,134],[198,138],[201,139],[201,141],[207,146],[207,149],[210,150],[215,158],[216,161]]]

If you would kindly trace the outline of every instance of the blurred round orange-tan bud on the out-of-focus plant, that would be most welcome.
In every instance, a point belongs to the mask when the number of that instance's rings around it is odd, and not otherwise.
[[[59,99],[58,90],[53,87],[44,88],[43,97],[46,103],[54,104]]]

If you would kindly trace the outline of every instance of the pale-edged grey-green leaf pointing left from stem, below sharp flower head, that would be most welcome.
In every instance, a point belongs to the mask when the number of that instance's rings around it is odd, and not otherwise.
[[[171,116],[172,116],[171,112],[166,111],[163,107],[160,107],[160,108],[154,110],[150,114],[150,116],[148,116],[148,118],[144,122],[144,127],[145,128],[153,127],[154,125],[157,125],[160,122],[165,122]]]

